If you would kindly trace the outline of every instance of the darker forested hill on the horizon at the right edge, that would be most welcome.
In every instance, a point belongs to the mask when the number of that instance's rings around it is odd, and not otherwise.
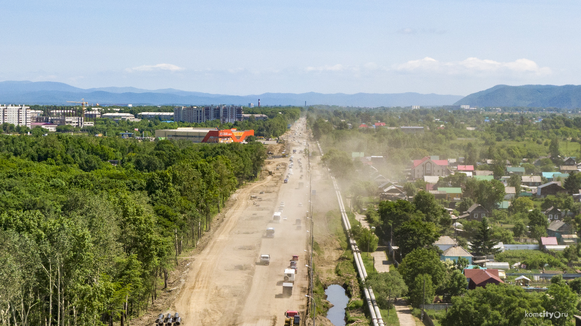
[[[472,107],[581,107],[581,85],[496,85],[472,93],[454,105]]]

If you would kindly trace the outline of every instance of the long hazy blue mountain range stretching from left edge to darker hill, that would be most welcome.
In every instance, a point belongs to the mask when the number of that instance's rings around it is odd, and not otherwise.
[[[151,105],[200,105],[237,104],[261,105],[307,105],[326,104],[337,106],[378,107],[378,106],[441,106],[450,105],[462,96],[420,93],[264,93],[260,95],[222,95],[188,92],[173,88],[139,89],[134,87],[77,88],[62,82],[4,81],[0,82],[0,103],[13,104],[67,104],[66,101],[80,101],[99,104],[151,104]]]

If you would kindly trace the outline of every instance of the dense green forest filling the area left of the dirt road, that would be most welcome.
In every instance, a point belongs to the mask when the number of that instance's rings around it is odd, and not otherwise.
[[[258,142],[0,135],[1,323],[105,325],[144,311],[265,157]]]

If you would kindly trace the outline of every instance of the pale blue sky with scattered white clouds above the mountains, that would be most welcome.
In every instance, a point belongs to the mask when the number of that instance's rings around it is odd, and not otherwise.
[[[581,84],[579,1],[0,1],[0,81],[228,95]]]

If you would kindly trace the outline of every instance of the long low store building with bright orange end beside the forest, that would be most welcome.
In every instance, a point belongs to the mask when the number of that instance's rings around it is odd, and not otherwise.
[[[246,137],[254,136],[253,130],[237,131],[235,128],[178,128],[158,129],[158,139],[185,139],[193,143],[242,143]]]

